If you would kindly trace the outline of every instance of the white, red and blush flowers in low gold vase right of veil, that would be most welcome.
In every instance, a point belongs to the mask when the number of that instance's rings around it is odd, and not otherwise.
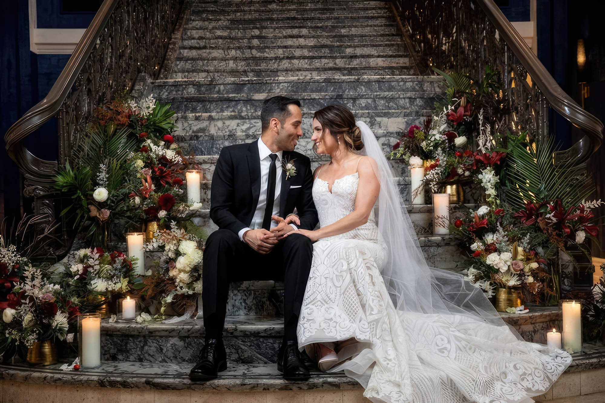
[[[481,206],[454,221],[453,234],[473,261],[466,276],[492,297],[497,287],[521,289],[529,301],[557,298],[547,258],[554,247],[544,235],[519,229],[502,208]]]

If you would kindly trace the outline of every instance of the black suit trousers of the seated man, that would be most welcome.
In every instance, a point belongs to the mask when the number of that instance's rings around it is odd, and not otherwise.
[[[289,235],[268,254],[259,254],[229,229],[212,232],[202,271],[206,337],[222,336],[229,283],[276,280],[284,281],[284,339],[295,340],[312,257],[313,244],[304,235]]]

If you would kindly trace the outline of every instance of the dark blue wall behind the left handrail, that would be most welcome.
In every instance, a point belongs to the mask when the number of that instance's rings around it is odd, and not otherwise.
[[[38,28],[86,28],[93,13],[62,13],[61,0],[38,0]],[[29,203],[21,200],[21,179],[15,164],[4,151],[4,134],[32,106],[44,98],[67,64],[67,54],[34,54],[30,51],[29,10],[27,1],[2,4],[0,15],[0,195],[4,214],[19,215]],[[27,139],[35,156],[57,157],[56,122],[48,122]],[[1,202],[0,202],[1,204]]]

